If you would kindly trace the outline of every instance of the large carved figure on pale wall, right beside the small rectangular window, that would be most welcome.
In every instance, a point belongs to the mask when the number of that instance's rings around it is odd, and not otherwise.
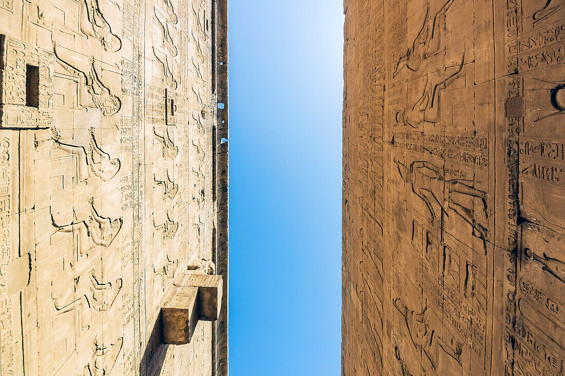
[[[84,81],[86,91],[90,94],[94,106],[99,109],[103,116],[112,116],[121,108],[121,100],[110,92],[110,89],[102,83],[98,77],[98,73],[94,68],[94,58],[90,60],[90,74],[79,70],[61,59],[56,51],[55,42],[53,42],[53,53],[59,64],[71,75],[79,77]]]

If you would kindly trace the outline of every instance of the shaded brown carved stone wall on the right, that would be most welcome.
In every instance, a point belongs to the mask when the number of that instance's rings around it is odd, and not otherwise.
[[[562,374],[565,2],[345,14],[342,374]]]

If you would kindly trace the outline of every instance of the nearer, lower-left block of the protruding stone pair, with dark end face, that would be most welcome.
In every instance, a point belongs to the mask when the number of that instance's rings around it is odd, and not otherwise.
[[[198,322],[198,287],[175,287],[162,309],[163,343],[190,342]]]

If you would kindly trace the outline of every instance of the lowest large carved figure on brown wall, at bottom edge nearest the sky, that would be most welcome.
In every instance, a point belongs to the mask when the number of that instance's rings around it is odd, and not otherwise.
[[[461,355],[463,353],[463,344],[455,342],[454,345],[449,345],[444,342],[438,335],[435,335],[435,331],[431,329],[428,319],[428,306],[424,306],[424,309],[420,313],[410,310],[402,302],[400,298],[393,300],[394,308],[401,313],[405,318],[405,325],[410,334],[410,339],[414,344],[414,347],[423,352],[423,354],[428,358],[430,364],[434,371],[437,371],[437,352],[434,352],[434,347],[439,347],[447,355],[453,358],[455,361],[461,364]],[[452,341],[453,342],[453,341]]]

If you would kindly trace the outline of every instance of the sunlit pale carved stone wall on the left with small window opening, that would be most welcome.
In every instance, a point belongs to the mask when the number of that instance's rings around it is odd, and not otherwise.
[[[0,374],[227,357],[227,322],[173,346],[159,320],[193,258],[225,259],[227,295],[226,4],[0,2]]]

